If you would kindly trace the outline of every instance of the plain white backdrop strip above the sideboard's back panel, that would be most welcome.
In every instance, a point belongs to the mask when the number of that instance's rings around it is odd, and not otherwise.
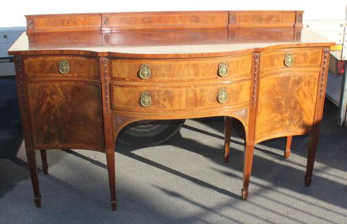
[[[172,10],[305,10],[304,20],[345,19],[347,0],[2,0],[0,27],[26,26],[24,15]]]

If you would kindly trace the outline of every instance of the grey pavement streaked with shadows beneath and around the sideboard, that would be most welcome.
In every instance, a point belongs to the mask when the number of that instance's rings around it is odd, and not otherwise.
[[[15,83],[0,80],[0,223],[347,223],[347,128],[325,103],[311,187],[304,187],[307,138],[257,145],[247,201],[243,141],[232,137],[224,164],[223,120],[188,120],[178,135],[152,148],[117,146],[118,211],[111,212],[105,155],[50,150],[40,171],[42,207],[33,203]],[[38,160],[40,161],[40,160]]]

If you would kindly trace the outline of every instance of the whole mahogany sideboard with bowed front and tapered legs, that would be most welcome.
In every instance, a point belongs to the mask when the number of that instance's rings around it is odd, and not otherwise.
[[[112,210],[115,143],[139,120],[223,116],[246,133],[242,198],[255,144],[310,135],[310,186],[323,114],[329,40],[302,27],[303,11],[125,12],[28,15],[8,53],[17,90],[35,204],[35,150],[106,154]]]

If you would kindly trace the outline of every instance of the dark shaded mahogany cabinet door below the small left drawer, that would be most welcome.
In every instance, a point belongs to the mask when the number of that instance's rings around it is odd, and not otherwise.
[[[28,101],[36,148],[103,150],[99,83],[31,82]]]

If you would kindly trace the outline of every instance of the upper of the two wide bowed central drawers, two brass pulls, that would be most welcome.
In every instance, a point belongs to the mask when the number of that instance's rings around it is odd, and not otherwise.
[[[250,76],[252,55],[174,60],[111,60],[117,80],[205,80]]]

